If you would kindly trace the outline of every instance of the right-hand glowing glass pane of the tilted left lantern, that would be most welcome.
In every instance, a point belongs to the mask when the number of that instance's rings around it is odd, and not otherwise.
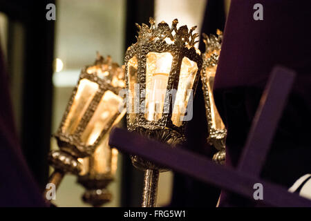
[[[120,96],[115,95],[111,90],[107,90],[82,133],[81,141],[86,143],[86,145],[93,145],[102,131],[112,126],[113,122],[111,119],[119,114],[119,107],[122,105],[122,101],[123,99]]]

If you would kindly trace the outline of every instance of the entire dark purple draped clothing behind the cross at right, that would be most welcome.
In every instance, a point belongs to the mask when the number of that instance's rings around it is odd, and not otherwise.
[[[263,21],[253,6],[263,5]],[[282,65],[297,73],[261,177],[283,186],[311,172],[311,1],[232,0],[214,95],[227,126],[227,166],[237,166],[263,86]],[[264,134],[263,134],[264,136]],[[245,206],[223,192],[220,206]]]

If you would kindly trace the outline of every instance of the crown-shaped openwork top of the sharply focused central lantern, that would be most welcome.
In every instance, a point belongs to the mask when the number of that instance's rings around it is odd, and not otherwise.
[[[136,36],[138,44],[160,40],[169,41],[178,47],[186,45],[191,48],[198,42],[196,41],[198,33],[193,33],[197,26],[190,28],[190,30],[187,26],[177,28],[178,19],[172,21],[171,28],[169,27],[169,24],[164,21],[161,21],[158,23],[158,26],[156,26],[156,22],[151,17],[149,18],[149,23],[150,27],[144,23],[142,23],[142,26],[136,23],[136,26],[138,27],[138,36]]]

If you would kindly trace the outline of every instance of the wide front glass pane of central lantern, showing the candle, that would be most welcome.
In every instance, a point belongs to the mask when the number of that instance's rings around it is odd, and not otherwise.
[[[146,66],[146,112],[149,121],[162,117],[173,56],[169,52],[149,52]]]

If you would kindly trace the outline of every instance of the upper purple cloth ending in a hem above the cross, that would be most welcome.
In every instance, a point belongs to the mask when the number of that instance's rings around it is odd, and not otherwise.
[[[263,21],[253,19],[255,3],[263,5]],[[310,85],[310,8],[308,0],[232,0],[215,89],[264,86],[276,64],[296,70]]]

